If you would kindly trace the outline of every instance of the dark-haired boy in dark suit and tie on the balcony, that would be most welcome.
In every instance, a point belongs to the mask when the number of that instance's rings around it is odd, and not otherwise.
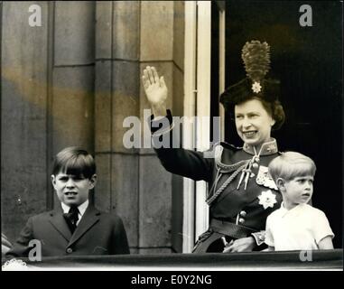
[[[67,147],[57,154],[51,182],[60,200],[58,208],[28,219],[6,256],[28,256],[32,240],[41,244],[41,256],[129,254],[122,219],[88,201],[97,175],[87,151]]]

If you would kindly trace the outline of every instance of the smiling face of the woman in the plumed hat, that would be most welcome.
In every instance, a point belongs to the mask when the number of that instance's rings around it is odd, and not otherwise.
[[[274,119],[258,99],[250,99],[234,108],[237,134],[246,144],[259,145],[270,139]]]

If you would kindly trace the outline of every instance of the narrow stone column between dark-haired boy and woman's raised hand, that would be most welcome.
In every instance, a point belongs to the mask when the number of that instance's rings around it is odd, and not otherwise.
[[[138,116],[138,1],[97,2],[96,24],[96,205],[123,219],[131,247],[138,247],[137,149],[126,149],[125,117]]]

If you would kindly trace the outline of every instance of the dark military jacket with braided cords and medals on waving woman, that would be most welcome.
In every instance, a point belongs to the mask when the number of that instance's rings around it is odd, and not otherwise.
[[[172,129],[159,130],[162,131],[172,138]],[[244,238],[264,230],[267,216],[282,202],[282,195],[267,172],[268,164],[279,155],[276,141],[272,138],[263,144],[260,152],[249,144],[236,147],[227,143],[214,145],[212,151],[214,157],[182,148],[155,149],[168,172],[209,182],[210,230],[199,242],[209,238],[211,227],[219,233],[218,238],[221,234]],[[259,235],[254,236],[260,245]]]

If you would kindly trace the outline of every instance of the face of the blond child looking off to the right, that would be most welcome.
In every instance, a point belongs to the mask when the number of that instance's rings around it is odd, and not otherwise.
[[[290,208],[301,203],[307,203],[311,200],[313,194],[314,177],[311,175],[295,177],[293,180],[284,181],[284,187],[281,190],[284,196],[284,204]]]

